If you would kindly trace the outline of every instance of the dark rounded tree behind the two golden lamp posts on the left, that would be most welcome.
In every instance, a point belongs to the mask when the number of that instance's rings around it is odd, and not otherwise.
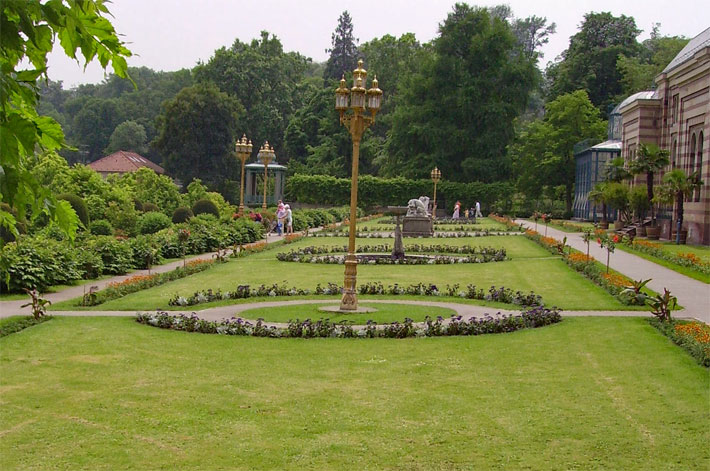
[[[216,185],[229,176],[239,117],[244,108],[212,84],[180,91],[165,104],[155,147],[165,169],[184,183],[201,178]]]

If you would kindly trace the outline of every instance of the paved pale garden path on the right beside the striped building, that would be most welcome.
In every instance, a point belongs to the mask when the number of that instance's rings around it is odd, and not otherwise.
[[[517,219],[515,222],[529,229],[535,226],[535,223],[523,219]],[[545,233],[544,224],[538,223],[538,232]],[[587,252],[587,244],[582,240],[582,233],[562,232],[548,227],[547,236],[558,240],[567,237],[567,245],[581,252]],[[606,249],[592,242],[589,244],[589,255],[604,263],[607,253]],[[663,288],[669,289],[671,294],[678,298],[678,303],[685,308],[683,311],[675,312],[675,317],[694,318],[710,324],[710,285],[622,250],[611,254],[609,266],[633,280],[651,278],[647,286],[658,293],[663,293]],[[569,315],[568,312],[564,314]]]

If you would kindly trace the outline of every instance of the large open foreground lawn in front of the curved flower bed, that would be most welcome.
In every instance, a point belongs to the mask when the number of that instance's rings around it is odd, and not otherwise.
[[[0,467],[710,467],[710,374],[646,320],[407,340],[57,318],[0,339]]]

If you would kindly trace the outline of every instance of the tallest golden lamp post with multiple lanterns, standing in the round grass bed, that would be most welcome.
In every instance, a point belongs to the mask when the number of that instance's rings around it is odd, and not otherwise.
[[[362,68],[362,59],[357,62],[357,69],[353,71],[353,88],[348,90],[345,86],[345,75],[340,79],[340,87],[335,90],[335,109],[340,113],[340,124],[348,127],[353,138],[353,174],[350,184],[350,238],[348,240],[348,255],[345,257],[345,286],[343,298],[340,301],[341,311],[357,310],[357,257],[355,256],[355,231],[357,224],[357,173],[358,159],[360,157],[360,139],[372,123],[382,104],[382,90],[377,88],[377,77],[372,81],[372,88],[365,90],[367,71]],[[365,97],[367,96],[367,116]],[[350,97],[350,114],[348,110],[348,97]]]

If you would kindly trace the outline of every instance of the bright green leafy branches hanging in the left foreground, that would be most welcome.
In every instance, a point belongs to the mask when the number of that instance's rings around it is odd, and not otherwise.
[[[61,126],[37,113],[38,82],[46,78],[47,55],[59,38],[64,53],[86,63],[98,57],[104,69],[126,75],[130,51],[119,39],[103,0],[24,0],[3,2],[0,8],[0,199],[19,218],[49,215],[70,237],[78,226],[76,213],[40,185],[30,168],[36,151],[66,146]],[[0,209],[0,225],[17,234],[12,211]]]

